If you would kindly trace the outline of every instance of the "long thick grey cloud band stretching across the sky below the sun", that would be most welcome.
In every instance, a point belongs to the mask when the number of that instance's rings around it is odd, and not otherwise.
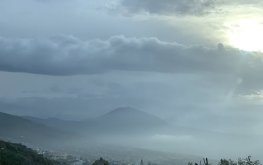
[[[251,76],[260,75],[262,69],[260,55],[244,55],[222,44],[211,49],[124,36],[88,41],[69,35],[49,39],[0,38],[0,70],[9,72],[63,76],[130,70]]]

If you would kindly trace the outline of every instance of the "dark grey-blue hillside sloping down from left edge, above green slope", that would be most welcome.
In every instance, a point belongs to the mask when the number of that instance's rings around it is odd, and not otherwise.
[[[39,122],[0,112],[0,138],[14,142],[48,145],[68,139],[70,134]]]

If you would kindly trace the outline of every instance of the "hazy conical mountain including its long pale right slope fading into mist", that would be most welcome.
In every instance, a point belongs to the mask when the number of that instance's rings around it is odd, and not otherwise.
[[[42,119],[31,116],[21,116],[25,119],[54,127],[72,133],[88,135],[92,138],[96,135],[176,135],[205,137],[229,137],[224,133],[200,130],[183,126],[169,125],[162,119],[152,114],[131,107],[117,108],[96,118],[88,118],[83,121],[68,121],[58,118]]]

